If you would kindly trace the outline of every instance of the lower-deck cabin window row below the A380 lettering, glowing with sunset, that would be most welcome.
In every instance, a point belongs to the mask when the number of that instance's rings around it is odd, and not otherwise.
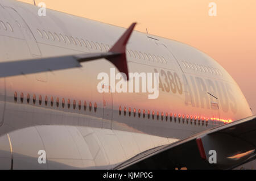
[[[127,109],[126,109],[126,107],[123,107],[123,115],[124,116],[126,116],[126,111],[127,111]],[[134,117],[136,117],[136,109],[134,108],[133,109],[133,116]],[[128,114],[129,114],[129,117],[131,116],[131,108],[129,107],[129,109],[128,109]],[[122,115],[122,107],[121,106],[119,106],[119,115]],[[147,115],[147,116],[146,116]],[[168,113],[166,113],[165,115],[164,115],[164,113],[163,112],[161,112],[161,114],[157,111],[156,112],[156,115],[155,115],[155,111],[152,111],[152,113],[150,112],[150,110],[148,110],[147,111],[147,113],[146,113],[146,111],[145,110],[143,110],[142,112],[141,112],[141,110],[139,109],[138,110],[138,117],[143,117],[143,118],[145,118],[145,117],[147,117],[148,119],[150,119],[150,116],[152,116],[152,119],[155,119],[155,117],[156,117],[156,119],[157,120],[159,120],[159,118],[163,121],[164,119],[166,120],[166,121],[168,121],[168,118],[170,117],[170,122],[172,121],[172,120],[174,120],[174,122],[176,123],[176,121],[179,121],[179,123],[182,121],[182,123],[184,124],[185,123],[185,121],[187,122],[187,124],[189,123],[189,119],[190,119],[190,123],[192,124],[193,123],[193,120],[194,120],[194,124],[196,125],[196,122],[198,123],[198,125],[200,125],[200,122],[202,121],[202,125],[204,125],[204,121],[205,121],[205,125],[207,126],[208,125],[208,119],[200,119],[200,117],[193,117],[193,116],[181,116],[181,115],[177,115],[176,113],[174,113],[174,114],[172,114],[172,113],[170,113],[170,116],[168,115]],[[172,118],[174,118],[174,119],[172,119]],[[198,121],[197,121],[198,120]]]

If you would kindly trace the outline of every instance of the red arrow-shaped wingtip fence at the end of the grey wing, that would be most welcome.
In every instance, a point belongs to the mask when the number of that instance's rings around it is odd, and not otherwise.
[[[133,29],[137,23],[131,24],[131,26],[126,30],[125,33],[119,38],[119,40],[113,45],[113,47],[109,50],[112,53],[118,53],[117,56],[108,57],[110,62],[114,64],[118,70],[122,73],[125,73],[127,76],[127,81],[129,80],[129,73],[127,68],[127,60],[126,60],[126,44],[133,32]]]

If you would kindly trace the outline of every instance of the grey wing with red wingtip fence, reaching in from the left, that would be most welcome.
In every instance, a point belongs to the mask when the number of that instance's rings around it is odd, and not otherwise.
[[[112,62],[119,71],[125,73],[128,80],[129,74],[125,53],[126,44],[130,38],[131,33],[133,32],[135,25],[136,23],[131,24],[131,26],[126,30],[125,33],[123,33],[123,35],[119,38],[117,43],[113,45],[109,52],[0,62],[0,78],[14,75],[40,73],[43,71],[77,68],[81,67],[81,62],[106,58]]]

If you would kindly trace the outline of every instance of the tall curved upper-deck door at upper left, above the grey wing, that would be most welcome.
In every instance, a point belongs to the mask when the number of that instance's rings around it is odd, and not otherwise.
[[[9,14],[13,16],[13,19],[15,20],[16,24],[18,24],[19,29],[22,32],[24,39],[26,40],[28,48],[30,49],[31,55],[34,57],[40,57],[42,54],[40,52],[38,44],[36,43],[35,37],[32,31],[30,30],[30,27],[28,27],[27,23],[25,22],[25,20],[13,8],[5,7],[5,10],[7,10]]]

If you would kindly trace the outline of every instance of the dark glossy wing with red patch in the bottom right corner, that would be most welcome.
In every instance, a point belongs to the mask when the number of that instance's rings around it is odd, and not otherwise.
[[[251,116],[144,151],[115,169],[233,169],[253,161],[255,147],[256,116]]]

